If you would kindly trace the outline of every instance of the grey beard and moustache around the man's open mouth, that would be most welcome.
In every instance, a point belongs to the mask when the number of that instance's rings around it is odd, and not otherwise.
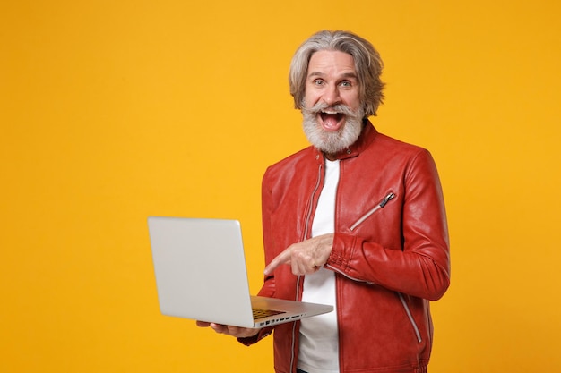
[[[326,109],[325,104],[317,104],[311,108],[302,109],[302,125],[304,133],[310,143],[320,151],[326,154],[337,154],[341,150],[349,148],[358,140],[362,131],[362,119],[364,118],[364,110],[359,109],[356,112],[350,110],[349,107],[343,105],[332,106],[342,114],[345,114],[345,124],[339,131],[324,131],[322,126],[317,123],[317,114]]]

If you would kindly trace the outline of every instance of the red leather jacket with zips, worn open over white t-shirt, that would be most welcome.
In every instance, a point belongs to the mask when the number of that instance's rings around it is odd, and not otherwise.
[[[339,157],[333,248],[341,372],[425,372],[433,326],[429,301],[450,284],[448,232],[436,166],[427,150],[366,123]],[[324,157],[306,148],[263,176],[263,240],[269,263],[310,238]],[[299,300],[303,278],[289,266],[260,295]],[[276,372],[296,371],[298,322],[274,327]],[[263,329],[254,343],[271,329]]]

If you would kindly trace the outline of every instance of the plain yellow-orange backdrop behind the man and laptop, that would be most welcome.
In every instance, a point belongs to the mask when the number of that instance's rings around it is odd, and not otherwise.
[[[2,1],[0,371],[272,372],[160,315],[146,217],[240,219],[306,146],[287,73],[316,30],[381,52],[380,131],[429,148],[453,283],[433,373],[561,369],[561,5],[555,1]]]

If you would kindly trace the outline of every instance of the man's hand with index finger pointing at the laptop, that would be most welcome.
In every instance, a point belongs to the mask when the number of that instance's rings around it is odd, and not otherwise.
[[[309,240],[294,243],[282,251],[269,266],[265,267],[265,276],[271,275],[282,264],[289,264],[294,275],[312,274],[324,267],[333,247],[333,233],[316,236]]]

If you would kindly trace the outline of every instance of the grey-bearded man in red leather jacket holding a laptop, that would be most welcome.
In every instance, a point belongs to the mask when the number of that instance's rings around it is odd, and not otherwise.
[[[429,152],[375,130],[382,60],[345,31],[297,50],[290,93],[312,144],[263,176],[260,295],[334,312],[263,329],[199,322],[256,343],[274,329],[281,373],[426,372],[429,301],[450,284],[444,201]]]

